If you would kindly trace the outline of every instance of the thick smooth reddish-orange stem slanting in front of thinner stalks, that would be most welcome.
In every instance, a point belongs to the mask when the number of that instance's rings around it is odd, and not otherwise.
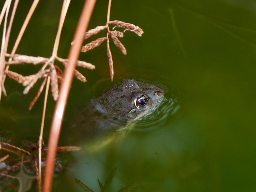
[[[49,148],[46,156],[46,168],[44,173],[43,184],[44,192],[50,192],[52,189],[52,178],[54,172],[55,157],[60,137],[60,129],[62,125],[64,111],[67,105],[71,82],[74,76],[76,61],[78,59],[82,47],[84,33],[88,27],[95,3],[96,0],[86,0],[76,28],[76,33],[73,39],[74,44],[71,46],[71,49],[68,54],[68,66],[65,68],[63,82],[60,86],[60,95],[54,110],[50,138],[48,142]]]

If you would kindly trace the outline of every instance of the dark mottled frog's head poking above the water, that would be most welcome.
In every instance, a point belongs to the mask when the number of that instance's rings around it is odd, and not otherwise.
[[[103,100],[101,104],[104,105],[108,114],[119,120],[131,121],[153,112],[163,100],[164,91],[154,85],[127,79],[104,93],[102,98],[105,102]]]

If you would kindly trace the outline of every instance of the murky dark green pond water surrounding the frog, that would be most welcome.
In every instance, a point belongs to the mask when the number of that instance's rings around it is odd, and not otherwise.
[[[31,2],[31,1],[30,1]],[[97,1],[89,28],[106,23],[107,1]],[[2,3],[1,3],[2,5]],[[12,48],[30,4],[20,2],[9,48]],[[83,1],[72,1],[61,35],[58,55],[66,58]],[[68,167],[58,172],[53,191],[82,191],[74,178],[100,191],[110,171],[117,173],[111,191],[134,181],[133,191],[255,191],[256,172],[256,3],[254,0],[115,1],[110,20],[140,26],[142,37],[125,32],[124,56],[111,43],[115,79],[108,73],[106,43],[81,53],[96,65],[85,74],[88,83],[74,79],[65,119],[84,102],[125,78],[166,86],[170,97],[179,90],[179,110],[157,124],[143,121],[122,140],[94,153],[72,153]],[[52,53],[61,1],[39,3],[17,53],[49,57]],[[2,30],[2,27],[1,27]],[[97,37],[105,36],[105,33]],[[91,38],[92,40],[95,37]],[[89,42],[89,41],[88,41]],[[86,41],[87,43],[87,41]],[[11,49],[9,49],[10,52]],[[40,66],[17,66],[24,75]],[[103,83],[102,83],[103,82]],[[98,88],[97,88],[98,85]],[[23,95],[23,87],[6,81],[7,97],[0,107],[1,130],[12,132],[11,143],[36,142],[40,132],[43,96],[29,111],[39,84]],[[47,141],[55,102],[49,97],[44,137]],[[155,116],[156,121],[160,118]],[[65,126],[64,126],[65,127]],[[138,130],[146,131],[138,131]],[[63,135],[61,139],[70,135]],[[70,159],[62,154],[60,159]],[[63,160],[64,161],[64,160]],[[12,181],[12,180],[11,180]],[[35,183],[31,191],[35,191]]]

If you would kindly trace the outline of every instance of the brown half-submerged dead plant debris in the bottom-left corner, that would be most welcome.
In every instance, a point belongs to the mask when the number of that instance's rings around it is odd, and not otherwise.
[[[37,189],[40,190],[41,186],[37,158],[39,148],[38,144],[27,142],[25,143],[25,147],[28,149],[19,148],[10,143],[0,142],[0,154],[4,154],[3,157],[0,157],[0,165],[2,163],[0,166],[0,175],[12,179],[18,179],[19,191],[29,190],[31,188],[31,183],[34,180],[36,180]],[[80,147],[76,146],[60,146],[57,148],[57,152],[77,151],[80,149]],[[48,148],[43,146],[42,151],[47,152],[47,150]],[[41,162],[45,162],[45,158],[42,158]],[[30,170],[30,173],[23,170],[24,165],[26,165],[27,169]],[[55,161],[55,167],[60,170],[64,169],[59,161]],[[16,172],[18,169],[20,171]],[[13,173],[15,173],[15,175],[13,175]],[[31,173],[34,173],[34,175],[31,175]]]

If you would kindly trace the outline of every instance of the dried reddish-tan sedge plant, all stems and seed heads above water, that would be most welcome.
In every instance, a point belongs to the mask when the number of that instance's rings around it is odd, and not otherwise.
[[[19,35],[17,36],[17,39],[15,41],[15,44],[12,48],[11,53],[7,53],[7,48],[9,44],[12,23],[16,13],[16,9],[19,4],[19,0],[15,0],[13,6],[11,6],[12,0],[6,0],[2,8],[2,11],[0,13],[0,25],[4,19],[4,24],[3,24],[4,30],[2,35],[2,44],[1,44],[1,53],[0,53],[0,100],[1,100],[2,92],[4,93],[4,95],[7,95],[7,92],[4,86],[6,76],[14,79],[15,81],[17,81],[18,83],[22,84],[25,87],[23,94],[27,94],[39,79],[44,79],[43,82],[41,83],[41,86],[38,92],[36,93],[35,98],[31,101],[29,106],[29,109],[33,108],[33,106],[35,105],[36,101],[40,97],[45,87],[42,123],[41,123],[40,135],[38,139],[38,147],[36,148],[38,150],[38,154],[37,154],[38,160],[37,160],[37,157],[33,155],[33,159],[36,159],[36,162],[38,162],[38,164],[35,163],[35,168],[36,168],[35,170],[37,170],[38,168],[38,172],[36,172],[36,175],[37,175],[38,186],[39,186],[38,190],[41,191],[41,185],[42,185],[42,182],[41,182],[42,163],[41,162],[43,161],[42,150],[44,148],[43,147],[44,119],[45,119],[45,111],[46,111],[46,105],[47,105],[47,99],[48,99],[48,92],[51,85],[52,97],[54,100],[58,100],[56,104],[53,120],[52,120],[52,127],[51,127],[50,139],[48,144],[49,150],[47,150],[47,158],[46,158],[47,167],[44,175],[44,191],[51,191],[52,175],[53,175],[53,170],[55,165],[54,160],[56,156],[56,149],[58,146],[60,129],[61,129],[65,107],[67,104],[67,98],[70,90],[71,80],[75,75],[76,78],[78,78],[82,82],[87,81],[86,77],[75,68],[76,66],[88,68],[88,69],[95,68],[95,66],[92,65],[91,63],[77,60],[79,52],[80,51],[87,52],[99,46],[103,41],[107,40],[107,54],[108,54],[110,77],[111,77],[111,80],[113,81],[114,68],[113,68],[112,54],[109,46],[109,36],[111,36],[113,42],[123,52],[123,54],[126,54],[127,53],[126,49],[124,45],[121,43],[121,41],[118,39],[118,37],[123,37],[124,32],[126,30],[132,31],[137,35],[141,36],[143,34],[143,30],[131,23],[126,23],[124,21],[119,21],[119,20],[110,21],[109,18],[110,18],[111,0],[109,0],[106,25],[98,26],[85,33],[89,20],[92,15],[94,4],[96,2],[96,0],[86,0],[82,14],[80,16],[80,19],[76,28],[76,33],[73,39],[72,46],[70,48],[68,59],[62,59],[58,57],[57,53],[58,53],[58,48],[60,43],[61,31],[62,31],[65,17],[68,11],[68,7],[70,4],[70,0],[63,0],[62,10],[60,14],[60,21],[59,21],[55,42],[53,45],[52,55],[49,58],[45,58],[40,56],[35,57],[35,56],[28,56],[23,54],[16,54],[17,48],[20,44],[20,40],[28,26],[29,20],[31,19],[32,14],[36,9],[38,2],[39,0],[33,1],[33,4],[31,5],[30,10],[28,11],[27,17],[24,20],[24,23],[20,29]],[[12,13],[11,13],[10,20],[8,20],[8,15],[11,7],[12,7]],[[125,30],[123,32],[117,31],[117,30],[110,31],[109,25],[114,25],[117,28],[124,28]],[[107,29],[106,37],[98,38],[90,43],[85,44],[82,47],[82,42],[84,39],[87,39],[95,34],[98,34],[100,31],[104,29]],[[6,61],[6,58],[9,58],[8,61]],[[55,65],[54,63],[55,60],[60,61],[64,65],[64,72],[60,67]],[[10,66],[20,65],[20,64],[34,64],[34,65],[40,64],[43,66],[36,74],[31,74],[29,76],[23,76],[17,72],[9,70]],[[61,87],[59,91],[60,82],[61,82]],[[21,148],[19,149],[16,148],[15,150],[20,150],[20,152],[22,151]],[[26,155],[30,156],[29,154],[26,154]],[[6,160],[7,158],[8,156],[4,156],[1,158],[1,161]]]

